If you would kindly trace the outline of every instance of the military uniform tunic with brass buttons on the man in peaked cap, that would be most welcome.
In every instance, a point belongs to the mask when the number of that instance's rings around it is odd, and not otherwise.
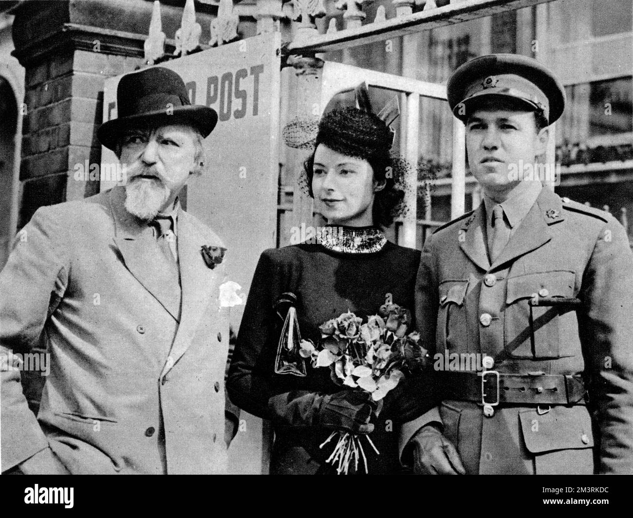
[[[501,403],[485,417],[482,405],[455,397],[454,384],[449,389],[455,373],[437,370],[444,434],[468,473],[631,473],[633,256],[626,233],[611,215],[548,189],[517,225],[492,263],[484,203],[432,234],[417,279],[422,339],[441,355],[488,355],[501,374],[568,376],[568,388],[570,377],[582,376],[589,402],[580,393],[577,404]],[[531,306],[536,296],[580,305]],[[532,390],[539,387],[523,389]]]

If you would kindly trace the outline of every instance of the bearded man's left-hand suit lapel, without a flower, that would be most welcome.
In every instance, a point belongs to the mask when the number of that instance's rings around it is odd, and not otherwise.
[[[180,286],[163,263],[153,231],[146,222],[125,210],[125,187],[110,191],[110,210],[115,220],[114,242],[125,267],[176,320],[180,319]]]

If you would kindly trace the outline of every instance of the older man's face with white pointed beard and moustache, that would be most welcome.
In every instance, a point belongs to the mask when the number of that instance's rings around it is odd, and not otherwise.
[[[127,165],[125,208],[143,220],[173,204],[197,168],[199,139],[187,125],[127,130],[119,160]]]

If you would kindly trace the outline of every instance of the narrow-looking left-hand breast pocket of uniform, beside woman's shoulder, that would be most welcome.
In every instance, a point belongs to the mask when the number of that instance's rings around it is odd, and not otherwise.
[[[439,285],[436,343],[440,352],[445,349],[466,350],[467,327],[464,300],[468,279],[442,281]]]

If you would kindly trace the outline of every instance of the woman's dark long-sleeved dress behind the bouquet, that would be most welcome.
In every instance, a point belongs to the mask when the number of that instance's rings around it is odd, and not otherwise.
[[[415,277],[420,251],[389,241],[372,253],[342,253],[322,244],[298,244],[262,253],[242,317],[237,344],[229,369],[230,400],[247,412],[272,419],[275,443],[271,473],[335,472],[325,459],[335,440],[319,445],[330,430],[316,426],[287,426],[275,422],[268,399],[280,393],[310,391],[331,394],[346,387],[330,379],[330,369],[313,369],[308,358],[307,376],[275,374],[275,355],[282,321],[273,310],[280,294],[291,291],[298,297],[297,315],[302,339],[320,339],[318,326],[348,310],[367,319],[379,312],[385,301],[413,312]],[[413,328],[410,329],[413,331]],[[401,471],[398,462],[398,424],[415,419],[432,405],[419,388],[406,390],[401,382],[384,400],[384,407],[370,434],[380,455],[362,439],[370,474]],[[305,392],[292,394],[300,396]],[[359,471],[364,472],[359,465]]]

